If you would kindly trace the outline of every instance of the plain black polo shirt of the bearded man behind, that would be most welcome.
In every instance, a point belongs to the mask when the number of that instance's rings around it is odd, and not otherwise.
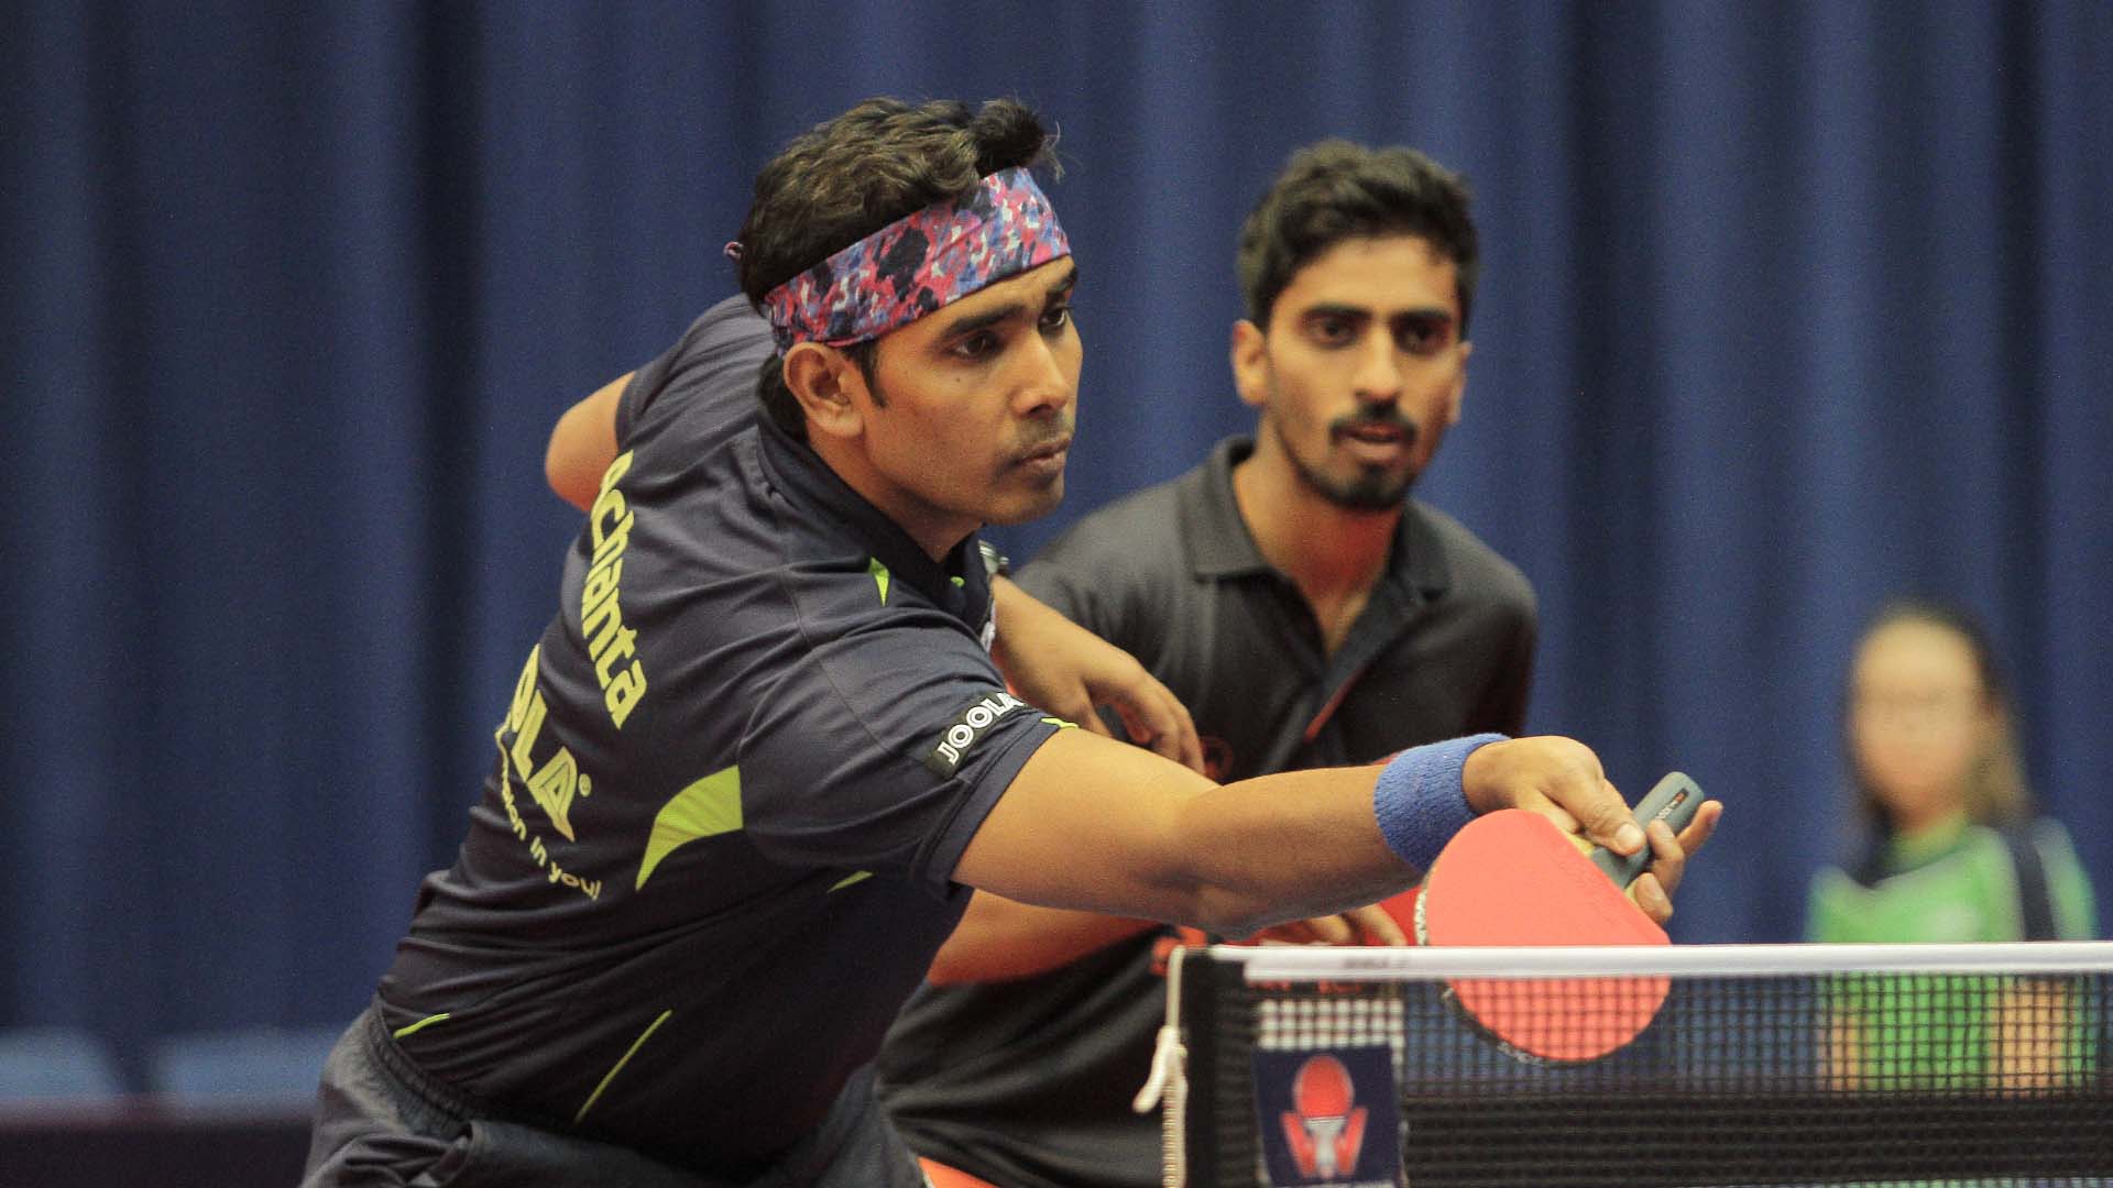
[[[1221,442],[1190,474],[1095,512],[1021,586],[1164,681],[1219,780],[1519,734],[1536,630],[1526,577],[1411,499],[1384,577],[1327,655],[1234,503],[1232,467],[1251,448]],[[881,1099],[911,1146],[1008,1188],[1158,1184],[1158,1120],[1128,1108],[1164,1017],[1156,941],[919,989],[881,1057]]]

